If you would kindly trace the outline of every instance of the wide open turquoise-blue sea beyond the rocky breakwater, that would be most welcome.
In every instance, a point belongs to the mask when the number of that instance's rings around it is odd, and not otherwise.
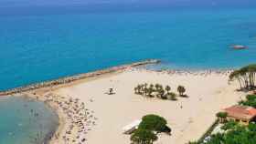
[[[145,58],[172,68],[240,67],[256,60],[255,17],[250,8],[1,15],[0,89]]]

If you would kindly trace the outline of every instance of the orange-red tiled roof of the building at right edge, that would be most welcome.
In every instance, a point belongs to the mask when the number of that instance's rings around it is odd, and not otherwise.
[[[229,117],[240,118],[240,119],[251,119],[256,117],[256,108],[246,107],[246,106],[232,106],[230,108],[225,108]]]

